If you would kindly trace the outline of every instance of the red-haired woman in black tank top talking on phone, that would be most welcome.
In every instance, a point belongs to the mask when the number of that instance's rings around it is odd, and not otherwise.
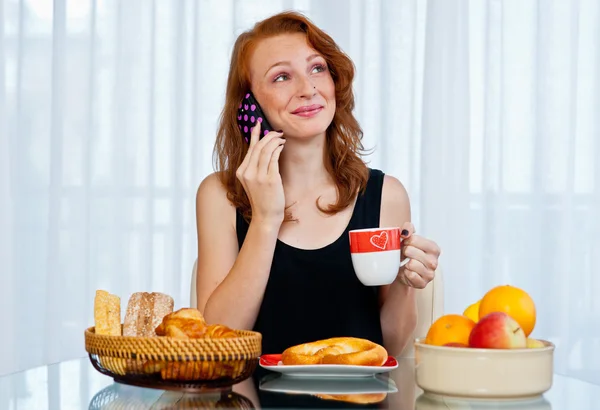
[[[434,277],[438,246],[414,234],[394,177],[360,158],[354,66],[304,16],[286,12],[237,39],[216,142],[219,169],[197,194],[198,308],[210,323],[254,329],[264,353],[334,336],[398,355],[416,324],[414,288]],[[250,144],[236,123],[252,91],[278,132]],[[362,285],[350,229],[403,228],[411,260],[388,286]]]

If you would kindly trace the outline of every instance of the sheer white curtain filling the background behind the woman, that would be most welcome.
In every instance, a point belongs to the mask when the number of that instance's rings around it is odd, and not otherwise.
[[[96,289],[188,303],[233,41],[290,8],[354,59],[446,312],[522,287],[600,382],[597,0],[0,0],[0,374],[83,356]]]

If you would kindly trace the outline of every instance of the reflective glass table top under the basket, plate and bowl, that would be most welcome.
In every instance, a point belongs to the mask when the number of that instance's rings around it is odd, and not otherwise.
[[[262,370],[262,369],[260,369]],[[554,375],[542,397],[518,402],[439,399],[423,394],[414,381],[414,359],[366,379],[315,380],[257,370],[225,393],[190,394],[115,383],[87,357],[0,377],[0,409],[597,409],[600,386]]]

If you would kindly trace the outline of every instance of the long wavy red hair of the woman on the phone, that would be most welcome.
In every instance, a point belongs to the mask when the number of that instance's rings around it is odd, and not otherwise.
[[[336,110],[333,121],[327,128],[324,163],[327,172],[335,181],[337,202],[324,213],[335,214],[346,209],[355,195],[363,192],[369,178],[369,170],[360,158],[363,151],[363,132],[354,117],[354,64],[338,47],[333,39],[315,26],[308,18],[297,12],[283,12],[258,22],[254,28],[242,33],[236,40],[231,54],[231,65],[227,79],[225,107],[221,113],[217,140],[214,148],[215,167],[221,183],[227,190],[229,201],[249,221],[252,217],[250,201],[235,173],[244,160],[248,145],[243,143],[237,126],[237,110],[244,94],[250,90],[248,62],[258,42],[265,38],[303,33],[308,43],[319,52],[335,84]],[[285,220],[292,217],[286,213]]]

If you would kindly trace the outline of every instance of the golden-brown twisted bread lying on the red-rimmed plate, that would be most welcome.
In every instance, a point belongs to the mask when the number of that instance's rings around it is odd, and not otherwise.
[[[334,337],[302,343],[284,350],[284,365],[343,364],[383,366],[388,358],[385,348],[370,340],[355,337]]]

